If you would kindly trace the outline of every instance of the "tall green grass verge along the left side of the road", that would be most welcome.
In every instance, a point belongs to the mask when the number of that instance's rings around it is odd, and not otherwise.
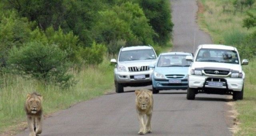
[[[43,95],[43,109],[47,115],[114,90],[113,69],[114,66],[105,58],[98,66],[86,66],[80,71],[70,71],[78,83],[69,89],[44,85],[39,81],[23,79],[16,75],[4,75],[1,77],[3,84],[0,88],[0,134],[11,135],[6,132],[15,134],[18,129],[24,129],[24,102],[28,93],[36,90]]]

